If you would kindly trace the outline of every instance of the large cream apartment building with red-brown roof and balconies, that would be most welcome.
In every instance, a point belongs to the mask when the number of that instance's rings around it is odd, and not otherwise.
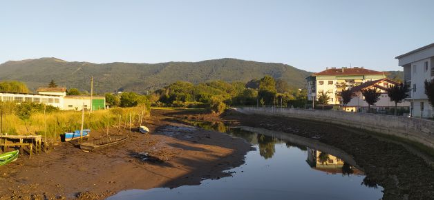
[[[359,86],[366,81],[384,79],[384,72],[365,68],[326,68],[322,72],[312,74],[306,78],[308,82],[308,100],[316,99],[319,94],[330,97],[328,104],[341,105],[340,92]]]

